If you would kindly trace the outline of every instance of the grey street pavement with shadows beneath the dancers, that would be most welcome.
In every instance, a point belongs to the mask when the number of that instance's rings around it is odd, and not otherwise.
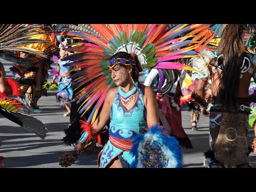
[[[8,68],[12,63],[0,60],[4,63],[6,76],[11,76]],[[52,66],[54,67],[54,66]],[[9,119],[0,115],[0,137],[3,144],[0,147],[0,156],[5,159],[2,163],[5,164],[1,168],[96,168],[97,157],[101,150],[100,147],[86,149],[85,152],[79,156],[75,164],[66,167],[59,165],[60,156],[67,152],[74,150],[73,146],[66,146],[61,141],[65,137],[64,129],[67,129],[69,124],[69,117],[63,117],[66,109],[59,106],[55,101],[54,92],[49,93],[47,97],[42,96],[38,101],[38,106],[43,109],[42,114],[30,113],[40,119],[49,130],[47,137],[42,140],[34,133],[23,129],[19,125],[13,123]],[[209,118],[201,116],[199,119],[198,131],[191,130],[190,111],[186,108],[182,110],[182,125],[185,132],[193,145],[193,149],[183,150],[183,164],[185,168],[202,168],[203,153],[209,149]],[[251,146],[254,132],[249,130],[247,142]],[[256,155],[250,154],[250,163],[256,167]]]

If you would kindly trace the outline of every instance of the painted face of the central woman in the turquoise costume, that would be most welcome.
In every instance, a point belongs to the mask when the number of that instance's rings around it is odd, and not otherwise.
[[[122,85],[122,83],[127,81],[127,77],[129,77],[129,69],[120,65],[116,65],[113,69],[109,69],[109,72],[117,86]]]

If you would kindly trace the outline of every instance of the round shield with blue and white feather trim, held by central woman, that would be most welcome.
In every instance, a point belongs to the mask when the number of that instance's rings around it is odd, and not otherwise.
[[[140,134],[134,139],[133,146],[130,151],[130,153],[134,155],[134,161],[131,163],[132,168],[183,167],[183,155],[182,150],[179,146],[179,142],[176,140],[175,137],[163,134],[164,131],[164,127],[159,125],[153,125],[150,127],[146,134]],[[146,143],[148,146],[146,146]],[[154,146],[156,150],[152,150],[154,149]],[[150,164],[148,163],[149,154],[153,154],[151,159],[153,159],[155,162],[152,164],[151,162]]]

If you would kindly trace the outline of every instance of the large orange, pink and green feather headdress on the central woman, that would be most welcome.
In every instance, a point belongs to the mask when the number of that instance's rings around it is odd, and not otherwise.
[[[142,68],[194,70],[175,61],[198,57],[193,50],[213,38],[213,31],[207,30],[210,26],[205,24],[180,24],[173,28],[167,24],[86,24],[86,27],[90,28],[86,33],[65,31],[55,35],[70,35],[90,42],[68,48],[77,53],[64,58],[76,60],[66,64],[74,66],[73,70],[84,69],[74,74],[73,87],[91,82],[74,98],[77,102],[84,100],[79,108],[79,113],[83,114],[96,103],[87,123],[94,122],[109,89],[115,86],[107,65],[112,55],[118,52],[136,54]]]

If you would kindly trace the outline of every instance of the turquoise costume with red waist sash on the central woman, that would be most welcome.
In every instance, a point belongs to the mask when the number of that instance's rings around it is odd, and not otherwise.
[[[140,84],[136,83],[140,89]],[[127,110],[122,104],[135,93],[134,106]],[[121,86],[116,91],[111,106],[109,141],[99,153],[98,166],[105,168],[115,157],[118,157],[123,167],[129,167],[134,156],[130,153],[132,141],[147,127],[146,108],[143,95],[136,87],[125,93]]]

